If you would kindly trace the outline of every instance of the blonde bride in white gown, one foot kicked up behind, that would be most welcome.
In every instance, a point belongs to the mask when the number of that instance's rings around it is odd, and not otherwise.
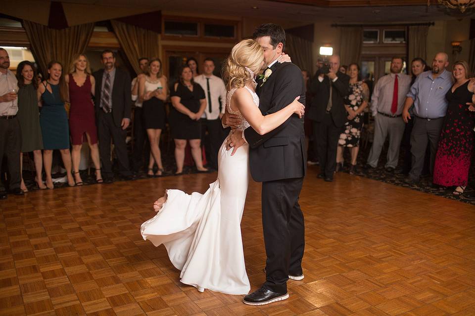
[[[304,105],[297,97],[281,111],[262,116],[254,74],[265,66],[264,52],[255,40],[241,40],[228,57],[226,107],[238,116],[238,129],[250,125],[265,134],[291,115],[303,115]],[[164,244],[170,261],[181,270],[180,281],[200,292],[209,289],[247,294],[250,290],[240,231],[248,185],[248,150],[245,144],[232,156],[225,140],[219,151],[218,179],[209,189],[190,195],[167,190],[154,203],[158,214],[142,224],[143,239],[155,246]]]

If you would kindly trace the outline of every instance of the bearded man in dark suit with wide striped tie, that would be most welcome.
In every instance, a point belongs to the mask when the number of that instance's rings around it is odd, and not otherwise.
[[[97,135],[99,137],[99,155],[102,161],[104,182],[113,181],[110,161],[110,139],[114,142],[115,156],[119,162],[119,172],[130,180],[126,129],[130,124],[131,80],[130,75],[115,68],[115,54],[104,50],[101,54],[104,69],[96,71],[95,78],[95,113],[97,118]]]

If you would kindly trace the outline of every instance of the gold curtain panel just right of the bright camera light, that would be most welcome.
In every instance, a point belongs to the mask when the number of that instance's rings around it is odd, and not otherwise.
[[[361,46],[363,44],[362,27],[342,27],[340,36],[340,65],[360,63]]]

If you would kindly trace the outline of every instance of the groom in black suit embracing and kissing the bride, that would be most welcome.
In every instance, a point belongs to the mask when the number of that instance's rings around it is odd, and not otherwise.
[[[253,37],[264,49],[267,66],[256,87],[262,114],[283,109],[297,96],[305,104],[305,84],[300,69],[292,63],[277,62],[285,46],[284,29],[276,24],[262,24]],[[223,123],[232,124],[229,115],[223,117]],[[294,114],[265,135],[248,127],[228,137],[228,148],[234,147],[235,152],[244,142],[250,147],[251,176],[256,182],[262,182],[267,261],[266,282],[243,301],[249,305],[264,305],[288,298],[288,278],[303,278],[304,221],[298,204],[307,161],[303,118]]]

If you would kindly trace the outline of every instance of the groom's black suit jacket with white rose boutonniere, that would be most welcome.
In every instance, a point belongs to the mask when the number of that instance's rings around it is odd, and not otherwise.
[[[265,116],[278,112],[300,96],[305,104],[302,72],[292,63],[275,63],[266,82],[258,81],[259,110]],[[262,84],[262,85],[261,85]],[[306,171],[303,118],[293,114],[273,131],[259,135],[252,127],[244,131],[249,143],[249,167],[252,178],[266,182],[301,178]]]

